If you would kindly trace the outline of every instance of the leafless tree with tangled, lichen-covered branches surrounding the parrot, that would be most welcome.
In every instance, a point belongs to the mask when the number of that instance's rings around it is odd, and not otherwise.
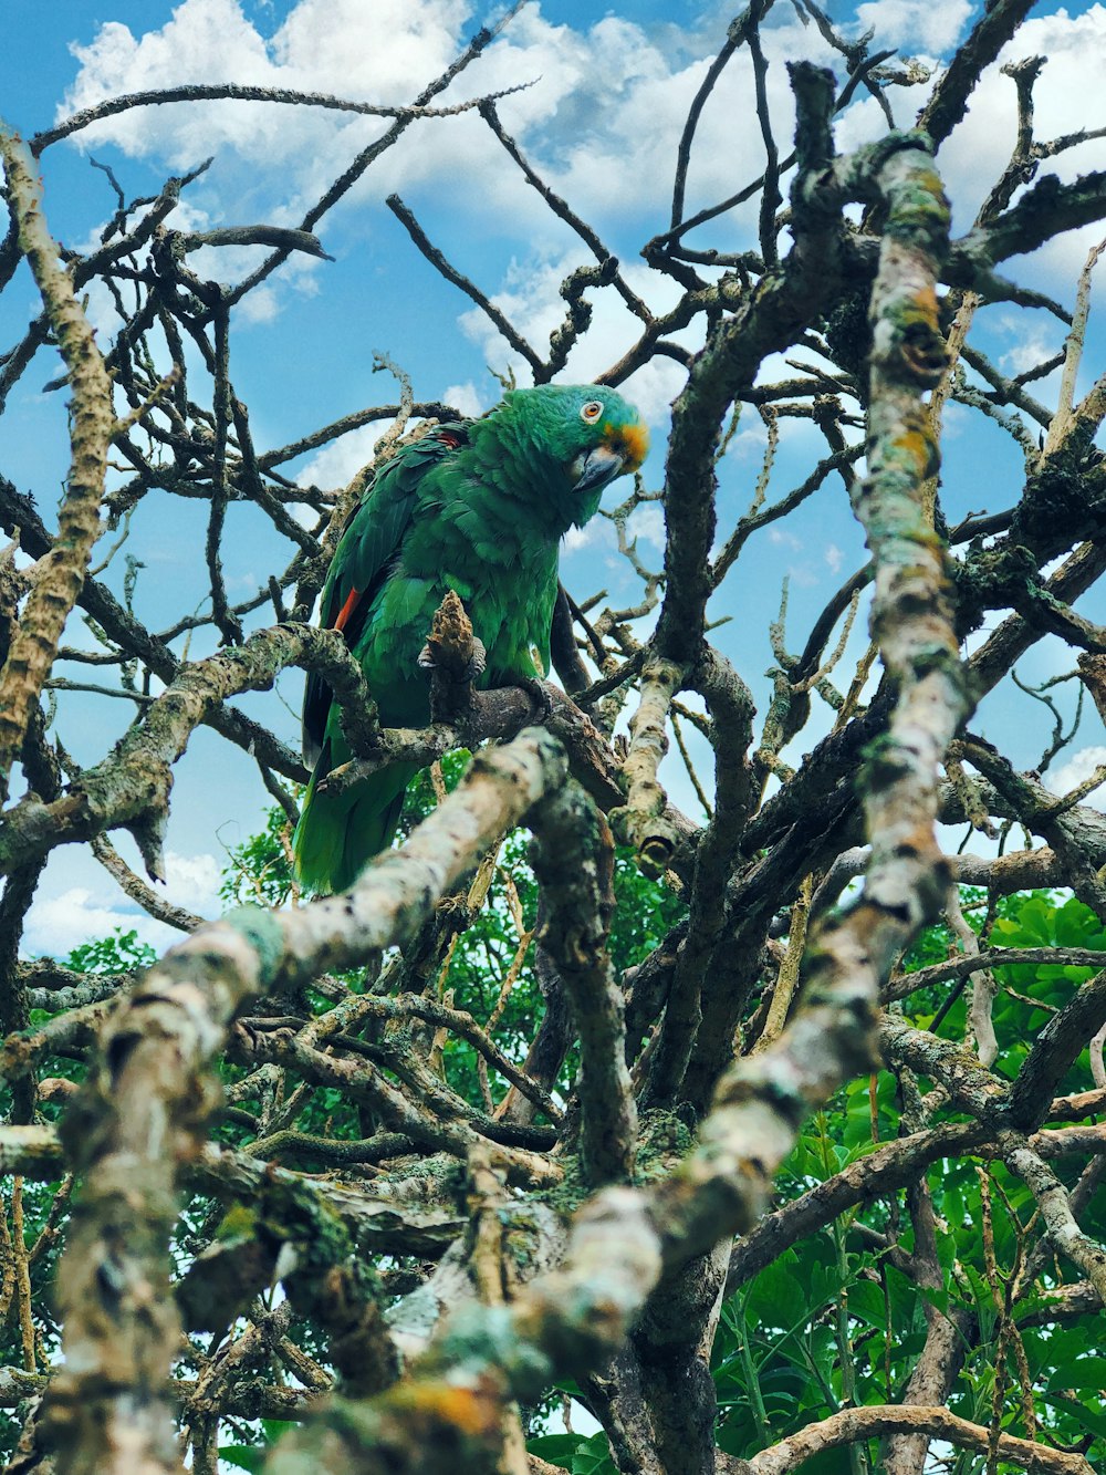
[[[622,1472],[765,1475],[817,1456],[866,1471],[877,1440],[894,1475],[936,1468],[926,1463],[933,1441],[967,1451],[947,1456],[961,1460],[956,1469],[981,1468],[969,1459],[988,1471],[1091,1469],[1094,1426],[1079,1423],[1074,1394],[1050,1389],[1063,1338],[1106,1299],[1093,1217],[1106,1143],[1096,1124],[1106,972],[1094,972],[1106,823],[1084,804],[1105,774],[1057,795],[970,721],[1047,633],[1071,649],[1072,680],[1106,714],[1106,633],[1074,608],[1106,569],[1094,445],[1106,378],[1075,392],[1097,252],[1071,308],[1003,274],[1012,257],[1106,217],[1106,178],[1060,183],[1043,168],[1088,134],[1037,139],[1032,93],[1047,63],[1028,58],[1007,68],[1018,103],[1009,164],[970,230],[950,239],[941,149],[1028,4],[985,10],[911,130],[894,127],[891,99],[905,115],[908,87],[928,78],[870,38],[838,35],[813,0],[802,9],[841,65],[836,77],[792,66],[793,145],[767,108],[767,3],[730,25],[693,100],[671,220],[643,248],[658,298],[678,289],[667,311],[546,183],[495,97],[438,105],[494,31],[404,109],[190,86],[119,97],[29,143],[0,128],[10,215],[0,283],[27,261],[41,296],[0,361],[0,403],[49,344],[71,395],[56,525],[0,476],[12,538],[0,562],[9,1471],[147,1475],[187,1462],[214,1472],[221,1448],[229,1459],[227,1446],[260,1441],[257,1420],[280,1420],[302,1428],[268,1456],[274,1475],[518,1475],[550,1468],[525,1441],[554,1386],[599,1420],[596,1459]],[[698,121],[739,52],[752,59],[767,164],[689,215]],[[861,93],[883,106],[888,130],[839,155],[835,117]],[[63,249],[47,226],[43,150],[115,112],[196,99],[347,108],[379,114],[382,131],[296,229],[177,229],[193,174],[136,204],[119,189],[99,248]],[[524,690],[473,692],[438,676],[438,720],[383,732],[342,637],[310,625],[372,466],[336,490],[302,487],[285,469],[372,423],[388,426],[378,451],[388,457],[456,410],[419,401],[404,381],[397,404],[258,445],[234,386],[230,314],[292,252],[321,254],[327,211],[406,130],[465,109],[580,240],[562,324],[547,347],[528,342],[392,196],[414,246],[488,314],[535,382],[562,373],[602,292],[618,294],[637,329],[600,381],[621,384],[658,355],[684,379],[664,484],[639,482],[611,513],[640,602],[563,593],[553,630],[563,690],[549,711]],[[711,229],[749,199],[759,201],[757,240],[740,252],[712,246]],[[846,215],[857,205],[863,215]],[[233,243],[268,255],[237,282],[192,268],[202,245]],[[119,313],[111,345],[83,305],[93,283]],[[973,344],[976,314],[992,302],[1059,322],[1062,353],[1003,373]],[[699,347],[684,347],[687,329]],[[780,355],[787,378],[765,370]],[[1032,386],[1057,369],[1044,403]],[[1013,438],[1023,476],[992,488],[998,510],[948,527],[939,442],[953,401]],[[761,416],[767,448],[748,510],[720,527],[718,462],[743,407]],[[777,445],[795,419],[824,451],[780,490]],[[109,459],[125,472],[109,476]],[[774,690],[758,717],[712,639],[708,600],[770,525],[787,518],[817,537],[814,499],[838,487],[869,559],[801,649],[789,648],[783,617],[773,625]],[[97,544],[142,519],[153,493],[208,507],[209,608],[161,630],[93,566]],[[221,556],[234,502],[270,519],[289,550],[239,603]],[[633,538],[646,502],[664,507],[664,569],[650,571]],[[872,645],[848,670],[861,606]],[[267,608],[276,622],[260,625]],[[74,639],[81,621],[94,642]],[[202,628],[218,649],[190,661],[184,642]],[[94,670],[84,681],[63,676],[74,664]],[[174,766],[201,724],[251,755],[291,825],[293,785],[307,777],[299,755],[234,705],[288,667],[323,673],[345,708],[358,757],[338,782],[397,755],[429,766],[456,748],[479,751],[348,895],[293,891],[288,906],[201,923],[134,873],[109,835],[128,830],[156,881]],[[65,748],[74,687],[136,709],[84,768]],[[1071,733],[1048,692],[1023,701],[1056,712],[1047,767]],[[616,735],[622,720],[628,739]],[[665,792],[669,735],[702,820]],[[695,771],[705,752],[712,779]],[[503,850],[521,825],[534,835],[537,912],[519,900],[519,848]],[[956,854],[939,825],[966,833]],[[1015,827],[1022,848],[1012,848]],[[149,971],[88,975],[19,959],[46,858],[74,844],[187,934]],[[675,916],[633,963],[611,944],[616,844],[659,879],[649,897],[667,895]],[[1062,937],[1006,945],[1004,898],[1032,888],[1071,892],[1102,928],[1082,947]],[[271,900],[264,886],[260,895]],[[646,906],[640,886],[622,895]],[[450,968],[491,912],[498,1002],[478,1018],[453,997]],[[945,931],[929,935],[947,938],[951,956],[919,969],[908,950],[936,923]],[[538,1000],[522,1041],[503,1024],[515,987]],[[998,1007],[1010,999],[1020,1013]],[[460,1086],[462,1050],[479,1089]],[[857,1109],[869,1136],[849,1152]],[[807,1125],[815,1112],[817,1137]],[[926,1176],[950,1161],[981,1165],[959,1221],[947,1202],[935,1208]],[[964,1226],[978,1273],[956,1249]],[[799,1261],[796,1246],[818,1236],[833,1246],[836,1279],[815,1286],[814,1261]],[[779,1320],[770,1308],[761,1323],[777,1328],[779,1344],[796,1274],[815,1394],[793,1389],[780,1406],[765,1391],[770,1353],[754,1356],[751,1288],[776,1286]],[[736,1432],[742,1400],[718,1403],[724,1336],[748,1392],[749,1438]],[[964,1382],[981,1366],[990,1376]],[[960,1412],[948,1407],[956,1400]]]

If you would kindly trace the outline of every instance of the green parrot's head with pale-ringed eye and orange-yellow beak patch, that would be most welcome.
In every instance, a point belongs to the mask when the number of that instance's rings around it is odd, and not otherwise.
[[[603,488],[616,476],[636,472],[649,451],[649,431],[640,414],[606,385],[544,384],[513,389],[503,407],[543,459],[557,468],[566,512],[577,527],[597,510]]]

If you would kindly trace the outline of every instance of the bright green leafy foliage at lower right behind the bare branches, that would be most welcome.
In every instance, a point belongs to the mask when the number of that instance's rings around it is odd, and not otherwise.
[[[963,888],[961,906],[979,928],[982,894]],[[1051,892],[1023,892],[1003,898],[990,929],[990,943],[1003,947],[1081,947],[1106,951],[1106,934],[1094,913],[1075,898]],[[911,948],[908,971],[944,962],[956,951],[948,929],[929,928]],[[1015,963],[995,969],[998,996],[994,1021],[1000,1041],[1015,1040],[995,1063],[1003,1075],[1016,1074],[1048,1006],[1059,1007],[1093,976],[1093,968],[1059,963]],[[939,1034],[961,1040],[966,1002],[960,985],[939,982],[911,994],[907,1010],[929,1027],[941,1018]],[[1013,990],[1010,993],[1009,990]],[[1020,994],[1022,997],[1015,997]],[[951,1000],[951,1007],[948,1007]],[[1085,1089],[1087,1056],[1075,1063],[1062,1090]],[[926,1083],[920,1081],[925,1090]],[[873,1128],[874,1109],[874,1128]],[[889,1072],[872,1083],[857,1080],[804,1128],[779,1174],[779,1199],[798,1198],[824,1183],[849,1162],[894,1140],[907,1128],[900,1121],[901,1100]],[[1075,1173],[1063,1161],[1054,1168],[1069,1184]],[[1000,1162],[959,1156],[933,1164],[926,1173],[933,1202],[938,1263],[942,1283],[919,1292],[889,1257],[879,1238],[894,1232],[907,1254],[913,1251],[904,1195],[861,1205],[823,1230],[798,1240],[779,1255],[724,1305],[714,1345],[712,1372],[718,1392],[718,1444],[745,1459],[808,1423],[829,1417],[851,1403],[897,1403],[925,1344],[926,1304],[939,1313],[963,1311],[978,1323],[964,1367],[948,1400],[961,1417],[990,1425],[995,1389],[995,1363],[1006,1286],[1040,1242],[1037,1204]],[[987,1199],[991,1208],[987,1210]],[[984,1221],[994,1246],[988,1264]],[[1084,1229],[1106,1236],[1106,1211],[1093,1201],[1082,1212]],[[1069,1280],[1071,1267],[1048,1257],[1044,1286]],[[1016,1323],[1034,1319],[1046,1307],[1041,1294],[1019,1298]],[[1106,1381],[1097,1356],[1093,1319],[1071,1326],[1043,1317],[1041,1326],[1022,1325],[1038,1429],[1048,1441],[1081,1447],[1093,1465],[1106,1457],[1106,1416],[1102,1386]],[[1000,1389],[1003,1428],[1028,1437],[1013,1353],[1007,1347]],[[854,1451],[852,1471],[877,1471],[874,1443]],[[998,1471],[1009,1466],[1000,1463]],[[1096,1465],[1097,1468],[1097,1465]],[[841,1450],[827,1451],[802,1466],[804,1475],[838,1475],[849,1469]],[[982,1460],[959,1454],[954,1475],[976,1475]]]

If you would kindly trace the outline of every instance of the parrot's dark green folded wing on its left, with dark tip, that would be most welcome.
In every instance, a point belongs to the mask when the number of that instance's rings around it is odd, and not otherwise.
[[[462,423],[439,425],[404,445],[373,476],[345,521],[323,584],[321,625],[357,645],[373,599],[403,547],[426,472],[467,444]],[[304,692],[304,761],[314,766],[323,748],[333,692],[314,671]]]

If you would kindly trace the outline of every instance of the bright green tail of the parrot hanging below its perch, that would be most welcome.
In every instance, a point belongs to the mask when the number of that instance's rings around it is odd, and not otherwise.
[[[319,785],[330,768],[329,746],[307,786],[292,854],[302,885],[333,894],[348,891],[373,856],[391,845],[403,796],[419,764],[397,763],[341,794],[320,794]]]

